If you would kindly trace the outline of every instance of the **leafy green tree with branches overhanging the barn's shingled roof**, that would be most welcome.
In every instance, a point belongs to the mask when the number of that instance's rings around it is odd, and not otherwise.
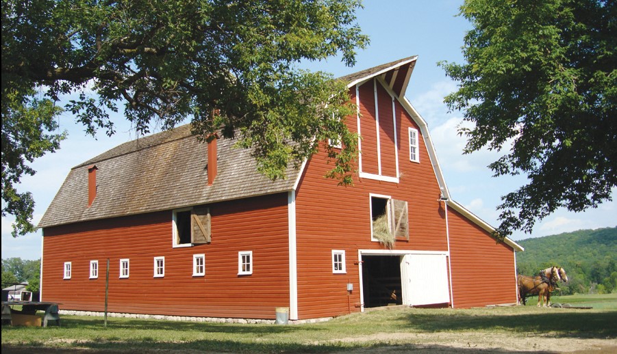
[[[346,87],[297,64],[341,55],[353,65],[355,49],[368,44],[355,23],[360,6],[360,0],[2,0],[2,118],[11,115],[5,98],[27,103],[35,87],[52,102],[72,94],[64,109],[90,134],[99,128],[113,134],[109,113],[119,105],[138,134],[190,118],[201,139],[237,135],[273,179],[316,152],[320,141],[340,139],[346,148],[329,151],[335,161],[329,176],[349,183],[357,140],[344,124],[353,112]],[[3,203],[10,200],[4,134]],[[16,182],[18,176],[7,185]],[[32,219],[32,209],[21,205],[3,204],[4,213]],[[29,230],[25,222],[16,225],[18,234]]]

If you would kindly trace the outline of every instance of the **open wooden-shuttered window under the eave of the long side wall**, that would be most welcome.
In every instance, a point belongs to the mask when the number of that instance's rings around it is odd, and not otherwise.
[[[173,247],[210,243],[210,208],[195,206],[173,212]]]

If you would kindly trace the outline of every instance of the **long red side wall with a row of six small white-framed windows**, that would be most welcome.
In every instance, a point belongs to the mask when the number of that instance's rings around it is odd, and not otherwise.
[[[172,247],[172,211],[46,228],[42,296],[62,310],[103,311],[110,259],[110,312],[275,318],[289,305],[287,194],[210,204],[212,243]],[[253,251],[253,274],[238,275],[238,251]],[[205,254],[205,276],[192,276],[193,254]],[[153,277],[153,258],[165,276]],[[130,259],[129,278],[119,260]],[[99,277],[89,278],[90,260]],[[73,275],[63,280],[64,262]]]

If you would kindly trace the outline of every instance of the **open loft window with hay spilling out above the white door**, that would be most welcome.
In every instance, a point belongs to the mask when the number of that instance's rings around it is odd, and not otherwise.
[[[396,239],[409,240],[407,202],[388,195],[370,195],[371,240],[392,248]]]

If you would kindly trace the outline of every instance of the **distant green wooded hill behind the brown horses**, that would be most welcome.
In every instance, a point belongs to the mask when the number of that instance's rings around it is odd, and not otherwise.
[[[518,274],[536,275],[557,265],[568,273],[559,283],[562,295],[617,292],[617,227],[579,230],[516,241]]]

